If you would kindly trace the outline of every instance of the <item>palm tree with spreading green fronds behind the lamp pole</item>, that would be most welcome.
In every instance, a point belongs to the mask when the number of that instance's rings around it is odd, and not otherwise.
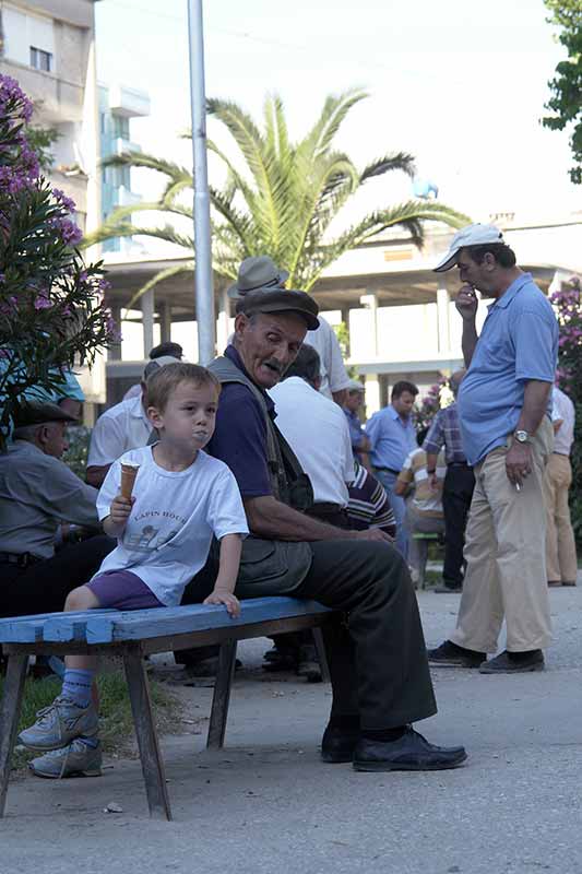
[[[409,200],[365,215],[334,234],[332,222],[354,194],[378,176],[391,170],[414,175],[414,157],[405,152],[384,155],[364,170],[343,152],[334,139],[349,110],[367,95],[347,91],[329,96],[311,130],[299,142],[289,139],[283,102],[268,96],[262,130],[240,106],[210,99],[209,115],[224,125],[239,151],[245,172],[212,141],[209,150],[222,161],[226,182],[211,187],[213,258],[217,273],[236,279],[240,261],[251,255],[270,255],[289,271],[287,286],[309,291],[326,267],[345,251],[389,227],[401,226],[416,246],[421,246],[426,222],[461,227],[467,217],[438,202]],[[166,217],[192,220],[183,192],[192,188],[189,169],[153,155],[128,152],[108,158],[108,166],[147,167],[166,177],[158,201],[118,208],[105,224],[86,237],[85,246],[127,236],[150,236],[193,251],[193,239],[175,224],[144,227],[134,223],[138,212],[154,211]],[[190,200],[191,202],[191,200]],[[193,270],[193,262],[161,271],[140,288],[146,290],[179,272]]]

